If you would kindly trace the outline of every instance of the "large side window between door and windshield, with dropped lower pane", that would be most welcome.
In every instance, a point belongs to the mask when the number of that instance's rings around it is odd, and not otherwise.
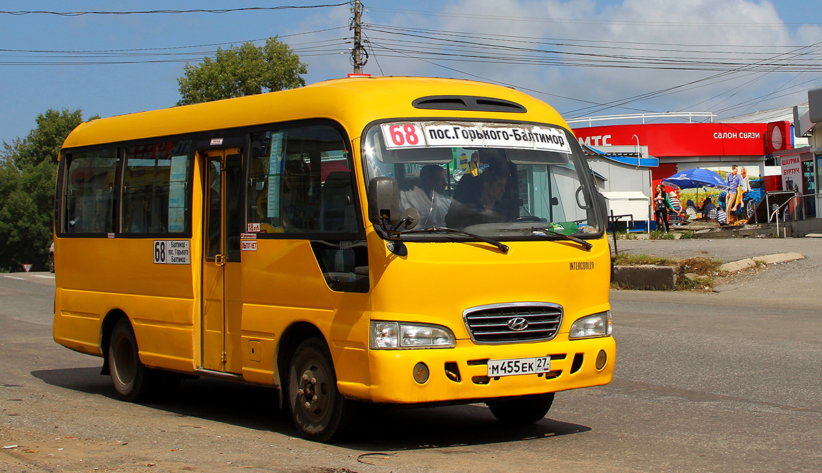
[[[252,134],[251,149],[249,229],[311,239],[332,290],[367,292],[368,252],[343,135],[333,126],[294,126]]]

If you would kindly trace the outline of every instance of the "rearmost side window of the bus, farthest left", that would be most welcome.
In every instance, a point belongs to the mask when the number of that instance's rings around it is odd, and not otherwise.
[[[99,149],[68,154],[62,208],[62,231],[114,232],[115,177],[118,150]]]

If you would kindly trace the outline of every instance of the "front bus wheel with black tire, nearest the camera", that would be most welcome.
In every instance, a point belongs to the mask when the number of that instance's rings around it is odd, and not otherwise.
[[[294,351],[288,393],[291,417],[305,439],[339,440],[353,424],[356,402],[337,390],[334,362],[321,338],[308,338]]]

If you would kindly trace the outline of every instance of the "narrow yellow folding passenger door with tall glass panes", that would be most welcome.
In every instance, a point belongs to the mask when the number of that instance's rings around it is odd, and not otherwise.
[[[210,149],[205,161],[202,368],[240,373],[242,150]]]

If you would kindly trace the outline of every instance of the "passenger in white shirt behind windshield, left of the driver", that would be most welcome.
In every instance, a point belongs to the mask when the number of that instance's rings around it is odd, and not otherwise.
[[[414,228],[445,227],[451,200],[442,196],[446,191],[446,170],[436,164],[427,164],[419,172],[419,186],[399,194],[399,209],[409,207],[419,212],[419,223]]]

